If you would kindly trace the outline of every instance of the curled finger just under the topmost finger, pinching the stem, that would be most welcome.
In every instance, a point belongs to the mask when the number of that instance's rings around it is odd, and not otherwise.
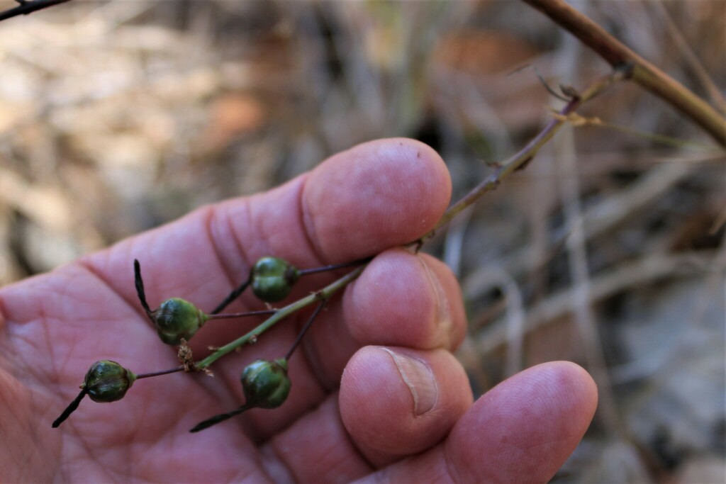
[[[300,323],[306,319],[304,316],[299,318]],[[359,324],[364,329],[355,337]],[[294,390],[285,405],[276,410],[275,418],[266,418],[264,411],[250,411],[248,420],[253,425],[246,430],[256,440],[267,440],[287,427],[325,396],[322,389],[330,392],[338,387],[343,368],[364,345],[452,349],[464,333],[460,290],[451,271],[428,255],[387,250],[347,288],[342,305],[331,305],[315,321],[298,350],[303,355],[295,354],[290,359]],[[294,333],[276,328],[267,336],[255,350],[272,358],[277,356],[276,351],[279,354],[277,347],[281,343],[290,345]],[[229,363],[239,361],[237,368],[241,368],[244,358],[235,355]],[[237,381],[235,374],[229,385],[242,398]]]

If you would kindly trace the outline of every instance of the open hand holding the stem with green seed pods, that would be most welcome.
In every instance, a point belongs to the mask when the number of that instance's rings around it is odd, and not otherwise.
[[[546,482],[574,450],[597,402],[574,364],[526,370],[472,403],[452,356],[466,323],[443,263],[397,247],[431,229],[449,202],[444,163],[415,141],[362,144],[254,197],[200,208],[43,276],[0,290],[0,481]],[[139,380],[122,401],[83,401],[90,364],[134,372],[178,364],[136,300],[142,262],[152,307],[172,296],[203,310],[264,255],[300,268],[378,254],[333,298],[290,358],[290,397],[197,434],[243,401],[239,377],[279,358],[306,315],[214,364],[215,378]],[[290,300],[331,282],[301,279]],[[247,295],[230,309],[259,308]],[[250,328],[210,321],[199,358]]]

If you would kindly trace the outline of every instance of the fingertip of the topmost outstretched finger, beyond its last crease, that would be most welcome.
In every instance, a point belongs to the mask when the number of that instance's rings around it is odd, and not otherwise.
[[[317,253],[346,261],[425,234],[450,197],[449,172],[431,147],[402,138],[370,141],[309,174],[303,223]]]

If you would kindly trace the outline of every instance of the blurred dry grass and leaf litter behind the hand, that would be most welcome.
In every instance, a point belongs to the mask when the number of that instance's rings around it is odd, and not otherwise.
[[[726,2],[576,7],[722,110]],[[15,2],[0,0],[0,10]],[[0,284],[362,141],[438,149],[460,197],[609,67],[499,1],[87,1],[0,22]],[[425,250],[460,277],[477,395],[585,366],[556,483],[726,480],[722,151],[626,83]]]

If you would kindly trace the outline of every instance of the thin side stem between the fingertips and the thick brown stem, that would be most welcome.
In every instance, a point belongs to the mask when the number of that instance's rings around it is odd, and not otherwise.
[[[547,144],[547,141],[550,141],[552,136],[555,136],[558,129],[566,122],[568,115],[580,107],[582,103],[587,102],[598,94],[603,93],[614,83],[618,83],[619,81],[629,78],[630,75],[632,75],[631,66],[621,65],[613,70],[613,72],[609,75],[597,79],[595,82],[591,83],[590,86],[587,86],[584,91],[570,99],[565,107],[558,112],[558,116],[550,120],[550,122],[547,123],[547,126],[545,126],[544,129],[542,129],[542,131],[534,137],[534,139],[529,141],[525,147],[512,157],[501,163],[497,163],[497,168],[494,173],[487,176],[484,181],[478,184],[478,186],[472,189],[458,202],[454,203],[454,205],[449,207],[449,209],[444,213],[444,216],[441,217],[441,220],[439,220],[439,223],[436,224],[436,227],[417,241],[412,242],[412,244],[417,245],[417,247],[423,245],[427,239],[433,237],[433,234],[437,230],[441,229],[441,227],[446,225],[446,223],[449,223],[449,221],[457,216],[462,210],[470,205],[473,205],[473,203],[479,200],[486,192],[491,192],[493,189],[497,188],[497,186],[502,183],[502,180],[506,179],[512,173],[525,168],[527,163],[529,163],[532,158],[537,155],[539,149],[542,149],[542,147]]]

